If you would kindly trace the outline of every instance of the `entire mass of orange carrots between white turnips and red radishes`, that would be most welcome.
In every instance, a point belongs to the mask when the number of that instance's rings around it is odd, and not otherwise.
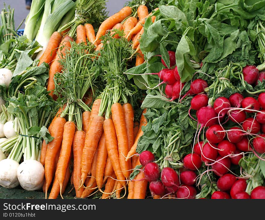
[[[108,40],[104,39],[106,33],[110,33],[112,39],[125,40],[131,45],[131,49],[135,50],[136,65],[140,65],[145,60],[139,40],[145,20],[152,16],[152,12],[141,5],[137,9],[137,16],[138,18],[134,17],[132,8],[126,6],[104,20],[96,34],[91,24],[79,25],[75,43],[92,45],[95,54],[92,56],[90,52],[86,53],[96,63],[100,61],[102,53],[104,56],[111,51],[107,49],[112,46],[110,40],[108,37]],[[152,16],[152,21],[154,20],[155,16]],[[54,100],[61,96],[54,93],[55,77],[58,73],[64,74],[61,60],[67,56],[73,42],[74,39],[64,33],[54,32],[39,61],[39,65],[46,62],[50,66],[47,90]],[[127,58],[117,57],[120,61]],[[123,89],[126,88],[119,87],[117,83],[107,83],[105,90],[95,97],[90,88],[86,96],[79,97],[86,107],[82,104],[78,114],[71,102],[63,103],[59,108],[48,127],[54,139],[47,144],[43,141],[41,149],[40,162],[45,168],[45,198],[55,199],[59,195],[63,198],[69,181],[77,198],[86,198],[98,191],[102,193],[102,199],[111,198],[114,193],[116,198],[123,198],[127,188],[128,198],[145,198],[147,181],[144,180],[143,172],[140,171],[134,180],[130,180],[130,174],[139,165],[136,147],[143,134],[141,128],[146,125],[145,110],[140,121],[134,121],[133,106],[128,94],[122,92]],[[76,115],[81,117],[76,118]],[[123,189],[125,193],[121,196]]]

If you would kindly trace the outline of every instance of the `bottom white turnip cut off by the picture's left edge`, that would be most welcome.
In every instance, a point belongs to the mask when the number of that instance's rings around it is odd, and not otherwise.
[[[5,188],[14,188],[19,185],[17,168],[19,163],[12,159],[0,161],[0,185]]]

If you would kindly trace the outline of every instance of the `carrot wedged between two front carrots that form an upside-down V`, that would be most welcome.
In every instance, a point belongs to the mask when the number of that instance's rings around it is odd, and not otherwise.
[[[107,157],[108,157],[108,151],[106,147],[105,134],[103,132],[98,142],[98,159],[97,159],[96,175],[95,175],[98,189],[101,189],[103,185],[104,169]]]

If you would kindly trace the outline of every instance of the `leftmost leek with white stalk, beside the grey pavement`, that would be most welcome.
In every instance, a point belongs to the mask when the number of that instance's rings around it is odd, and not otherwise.
[[[33,40],[35,25],[38,18],[42,15],[44,9],[45,0],[32,0],[30,13],[28,14],[25,22],[25,28],[23,35],[26,35],[28,39]],[[35,32],[36,33],[36,32]]]

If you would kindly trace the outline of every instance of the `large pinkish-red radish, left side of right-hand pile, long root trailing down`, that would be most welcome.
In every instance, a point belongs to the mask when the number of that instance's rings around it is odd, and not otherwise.
[[[213,124],[217,124],[217,114],[214,111],[214,108],[211,106],[205,106],[200,108],[196,112],[198,123],[201,124],[201,127],[210,127]]]

